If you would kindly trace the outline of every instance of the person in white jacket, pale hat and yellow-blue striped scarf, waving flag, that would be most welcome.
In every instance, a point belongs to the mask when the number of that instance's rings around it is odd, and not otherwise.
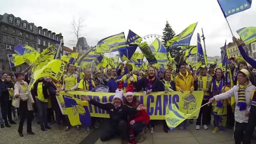
[[[243,142],[244,130],[248,123],[248,118],[251,108],[251,93],[255,86],[250,82],[250,72],[246,69],[238,71],[237,74],[238,84],[232,89],[222,94],[216,95],[209,100],[210,103],[223,100],[234,96],[236,100],[235,108],[235,120],[236,128],[234,131],[235,144],[241,144]]]

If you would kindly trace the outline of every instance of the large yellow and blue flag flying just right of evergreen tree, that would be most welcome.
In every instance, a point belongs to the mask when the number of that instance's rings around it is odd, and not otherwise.
[[[174,36],[171,40],[167,41],[167,46],[170,48],[174,48],[177,46],[189,46],[192,35],[196,29],[196,25],[198,22],[194,24],[190,24],[185,30],[183,30],[177,36]]]

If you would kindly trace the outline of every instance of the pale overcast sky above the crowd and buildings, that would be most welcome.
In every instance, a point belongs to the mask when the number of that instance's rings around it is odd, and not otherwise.
[[[196,45],[196,33],[202,35],[203,28],[208,56],[220,56],[225,40],[232,40],[217,0],[0,0],[0,4],[0,14],[13,14],[56,34],[61,32],[66,46],[74,40],[70,34],[73,16],[86,19],[83,32],[90,46],[120,32],[127,36],[129,29],[142,37],[162,35],[166,20],[176,34],[198,22],[191,45]],[[255,2],[227,19],[238,37],[236,30],[256,26]]]

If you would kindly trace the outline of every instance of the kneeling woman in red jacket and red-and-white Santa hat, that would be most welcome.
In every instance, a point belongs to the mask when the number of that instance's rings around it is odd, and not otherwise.
[[[127,88],[127,91],[129,88]],[[134,97],[134,93],[132,92],[132,89],[125,93],[125,101],[124,103],[131,107],[137,107],[141,103],[138,98]],[[131,144],[136,144],[137,142],[143,142],[146,138],[146,134],[143,130],[143,128],[148,125],[150,121],[150,118],[145,110],[138,111],[134,115],[128,116],[128,128],[129,128],[129,134],[130,134],[130,140],[129,142]],[[136,136],[134,140],[134,136]]]

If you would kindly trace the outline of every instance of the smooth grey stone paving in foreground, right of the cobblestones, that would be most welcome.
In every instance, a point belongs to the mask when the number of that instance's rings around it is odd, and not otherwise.
[[[213,127],[209,130],[195,130],[195,125],[191,124],[189,130],[173,130],[168,133],[163,132],[162,126],[156,126],[154,134],[147,132],[146,140],[140,144],[234,144],[232,140],[233,130],[226,132],[212,133]],[[95,144],[121,144],[118,137],[102,142],[100,139]]]

